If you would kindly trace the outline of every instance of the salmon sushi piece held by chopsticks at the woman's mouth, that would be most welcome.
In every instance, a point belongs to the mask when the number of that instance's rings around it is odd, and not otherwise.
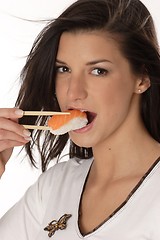
[[[54,135],[62,135],[72,130],[80,129],[87,125],[88,119],[85,112],[69,110],[70,114],[55,115],[48,120],[50,132]]]

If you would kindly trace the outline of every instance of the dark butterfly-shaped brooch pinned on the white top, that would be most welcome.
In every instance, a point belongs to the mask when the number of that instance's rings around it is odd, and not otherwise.
[[[64,214],[58,221],[53,220],[44,228],[44,231],[48,231],[48,236],[52,237],[57,230],[63,230],[67,227],[67,221],[71,216],[71,214]]]

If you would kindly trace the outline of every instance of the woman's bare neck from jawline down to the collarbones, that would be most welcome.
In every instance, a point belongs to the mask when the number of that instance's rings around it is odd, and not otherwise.
[[[114,133],[93,148],[93,155],[94,179],[104,182],[104,178],[111,180],[143,175],[159,157],[160,147],[140,122],[129,130]]]

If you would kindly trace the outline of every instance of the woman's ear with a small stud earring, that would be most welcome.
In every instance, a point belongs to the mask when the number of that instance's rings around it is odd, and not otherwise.
[[[147,74],[136,80],[135,93],[141,94],[151,86],[150,78]]]

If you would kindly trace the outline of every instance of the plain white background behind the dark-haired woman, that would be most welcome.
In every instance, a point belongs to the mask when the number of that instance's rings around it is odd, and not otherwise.
[[[18,89],[19,73],[25,64],[32,43],[45,26],[37,20],[57,17],[74,0],[0,0],[0,107],[13,107]],[[160,39],[159,0],[142,1],[155,20]],[[36,20],[25,21],[23,19]],[[24,153],[16,148],[0,180],[0,217],[39,176]]]

